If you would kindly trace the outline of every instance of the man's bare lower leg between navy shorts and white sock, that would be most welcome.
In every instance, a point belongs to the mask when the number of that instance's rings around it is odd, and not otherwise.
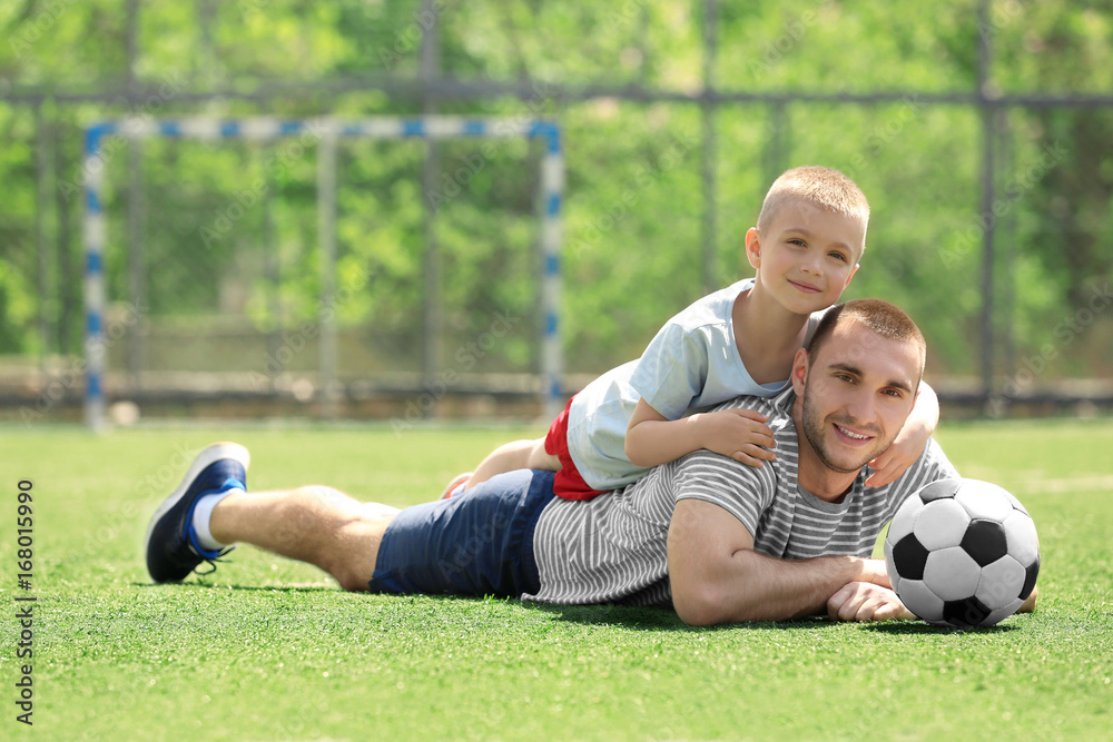
[[[314,564],[344,590],[367,590],[386,526],[397,508],[359,503],[324,486],[232,494],[213,508],[209,530],[225,544],[246,543]]]

